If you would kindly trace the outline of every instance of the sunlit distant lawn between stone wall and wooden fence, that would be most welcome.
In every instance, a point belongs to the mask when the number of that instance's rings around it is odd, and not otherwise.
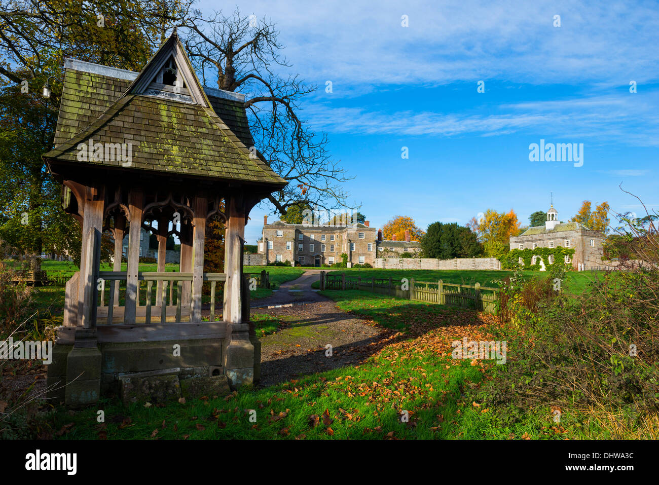
[[[485,287],[496,287],[494,281],[503,279],[507,276],[513,275],[512,271],[505,270],[382,270],[379,268],[341,268],[340,270],[329,271],[329,274],[341,275],[344,272],[346,276],[362,278],[382,278],[391,279],[394,284],[400,284],[402,278],[411,279],[416,281],[427,281],[436,283],[438,280],[444,283],[459,283],[464,285],[473,285],[480,283]],[[600,272],[591,271],[568,271],[565,273],[565,281],[561,283],[561,289],[575,295],[581,294],[586,291],[588,283],[594,281],[594,278]],[[547,271],[524,271],[527,278],[532,277],[546,277]],[[319,281],[312,283],[312,288],[320,288],[320,275]]]

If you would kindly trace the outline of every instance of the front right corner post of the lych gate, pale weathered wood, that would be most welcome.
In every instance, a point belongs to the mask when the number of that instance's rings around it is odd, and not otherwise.
[[[243,244],[245,231],[245,207],[243,196],[232,194],[226,200],[227,224],[224,238],[224,283],[225,322],[240,324],[241,285],[243,272]]]

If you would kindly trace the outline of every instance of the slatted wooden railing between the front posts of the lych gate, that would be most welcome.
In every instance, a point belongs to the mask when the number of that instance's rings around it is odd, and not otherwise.
[[[123,287],[125,301],[125,285],[121,285],[121,282],[126,279],[127,271],[98,272],[97,324],[123,323],[125,306],[121,304],[119,289]],[[156,318],[159,323],[167,322],[167,318],[173,322],[189,320],[190,302],[192,302],[192,292],[190,291],[192,273],[145,271],[138,273],[137,279],[136,317],[140,322],[144,319],[144,323],[150,324]],[[107,285],[107,281],[109,281],[109,285]],[[204,273],[204,282],[210,282],[210,322],[216,321],[217,283],[224,281],[226,281],[224,273]]]

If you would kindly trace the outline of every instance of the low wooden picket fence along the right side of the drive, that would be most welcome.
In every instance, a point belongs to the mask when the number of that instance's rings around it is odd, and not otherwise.
[[[346,276],[320,272],[320,289],[328,290],[365,290],[389,297],[423,301],[450,306],[459,306],[471,310],[496,314],[498,288],[475,285],[457,285],[444,283],[441,279],[432,281],[415,281],[409,279],[407,285],[393,283],[393,279]]]

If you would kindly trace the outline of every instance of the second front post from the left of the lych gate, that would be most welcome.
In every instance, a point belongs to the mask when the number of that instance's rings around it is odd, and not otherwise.
[[[137,311],[137,285],[138,271],[140,266],[140,231],[142,229],[142,208],[144,195],[142,190],[132,189],[128,196],[130,211],[130,232],[128,243],[128,263],[126,275],[126,303],[124,308],[124,323],[135,324]]]

